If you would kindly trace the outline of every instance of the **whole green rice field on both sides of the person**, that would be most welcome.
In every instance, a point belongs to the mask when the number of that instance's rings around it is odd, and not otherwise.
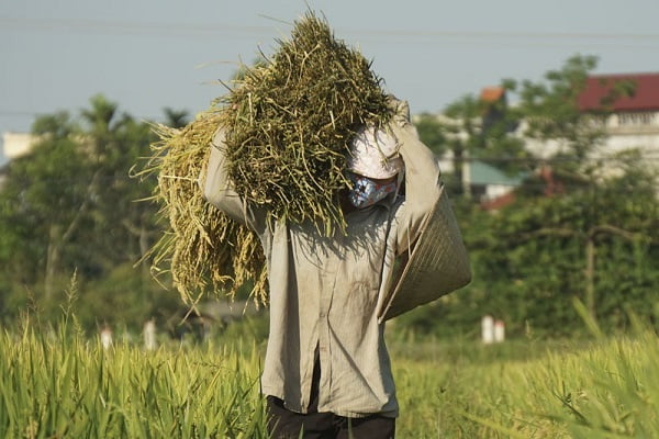
[[[144,351],[75,320],[0,334],[2,438],[266,438],[256,344]],[[399,438],[659,438],[659,340],[393,344]]]

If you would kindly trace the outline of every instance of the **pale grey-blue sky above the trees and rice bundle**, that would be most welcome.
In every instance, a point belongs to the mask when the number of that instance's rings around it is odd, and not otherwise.
[[[0,0],[0,133],[97,93],[138,119],[194,114],[308,8],[412,113],[576,54],[597,56],[597,74],[659,71],[658,0]]]

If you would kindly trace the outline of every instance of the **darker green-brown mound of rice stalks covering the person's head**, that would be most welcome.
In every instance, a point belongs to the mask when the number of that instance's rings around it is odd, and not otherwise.
[[[348,142],[365,124],[391,117],[381,80],[357,50],[308,12],[291,38],[220,99],[228,175],[237,192],[266,205],[271,223],[310,221],[344,229],[338,193]]]

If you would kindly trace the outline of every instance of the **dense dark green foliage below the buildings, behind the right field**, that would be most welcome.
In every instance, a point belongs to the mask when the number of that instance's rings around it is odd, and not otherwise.
[[[619,180],[597,192],[520,200],[498,214],[473,211],[463,224],[474,280],[443,299],[434,312],[443,329],[477,328],[482,315],[523,335],[528,326],[547,335],[578,331],[572,297],[592,301],[592,312],[608,331],[624,329],[626,311],[652,316],[659,288],[659,205],[652,192],[621,196]],[[589,278],[589,243],[594,266]],[[592,291],[593,297],[588,296]],[[426,320],[418,311],[415,317]]]

